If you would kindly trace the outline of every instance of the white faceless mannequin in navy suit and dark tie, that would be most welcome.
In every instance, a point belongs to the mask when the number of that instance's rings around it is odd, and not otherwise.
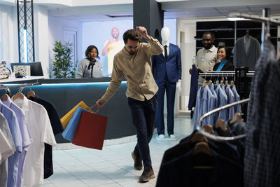
[[[153,55],[153,76],[158,85],[158,140],[165,139],[164,100],[167,92],[167,133],[171,139],[174,135],[174,103],[176,87],[181,90],[181,51],[178,46],[169,43],[169,28],[161,30],[162,46],[165,51],[160,55]],[[167,54],[165,54],[167,53]]]

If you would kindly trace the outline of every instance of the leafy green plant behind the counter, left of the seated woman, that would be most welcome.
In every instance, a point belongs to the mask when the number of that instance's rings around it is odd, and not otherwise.
[[[55,40],[52,50],[55,52],[52,72],[55,78],[75,78],[76,68],[71,62],[72,44]]]

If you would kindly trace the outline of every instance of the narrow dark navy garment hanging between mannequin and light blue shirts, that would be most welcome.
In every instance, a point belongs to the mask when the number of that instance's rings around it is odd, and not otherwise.
[[[198,71],[195,64],[192,66],[192,76],[190,77],[190,97],[188,99],[188,109],[191,110],[195,107],[197,96],[197,83],[198,83]]]

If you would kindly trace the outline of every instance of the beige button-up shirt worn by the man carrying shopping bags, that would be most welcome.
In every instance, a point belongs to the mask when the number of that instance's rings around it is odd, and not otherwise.
[[[118,90],[123,76],[127,79],[127,97],[139,101],[151,99],[158,92],[151,71],[151,56],[160,55],[162,51],[160,42],[152,37],[148,43],[139,43],[137,53],[134,55],[130,55],[125,47],[120,50],[114,57],[111,83],[102,99],[106,102],[111,99]]]

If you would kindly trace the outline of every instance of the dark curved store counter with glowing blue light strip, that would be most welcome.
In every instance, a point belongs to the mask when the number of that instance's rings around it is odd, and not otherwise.
[[[25,83],[32,83],[32,81],[34,82],[31,80],[25,81]],[[38,81],[41,85],[27,87],[22,90],[22,93],[26,95],[29,90],[33,90],[38,97],[52,102],[57,108],[59,118],[62,118],[80,101],[85,102],[87,106],[93,106],[97,99],[106,92],[110,81],[111,78],[43,79]],[[124,80],[116,94],[102,107],[100,114],[108,117],[105,139],[116,139],[136,134],[127,104],[126,90],[127,86]],[[11,89],[12,94],[17,91],[17,88]],[[61,134],[57,134],[55,139],[57,143],[69,142],[63,139]]]

